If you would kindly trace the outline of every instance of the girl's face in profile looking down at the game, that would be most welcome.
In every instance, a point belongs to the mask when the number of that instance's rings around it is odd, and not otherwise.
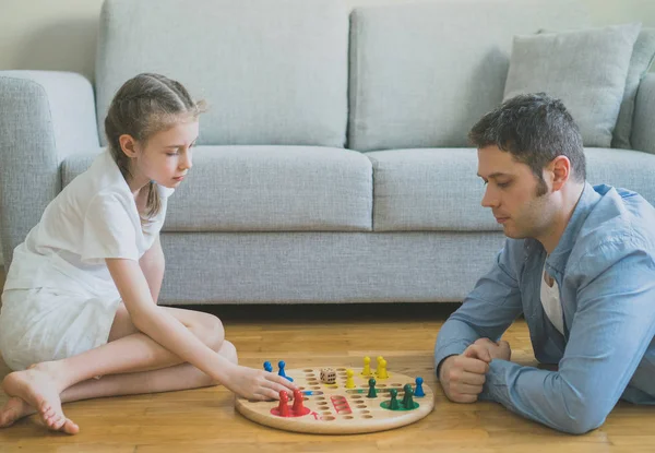
[[[177,188],[192,167],[191,147],[198,132],[198,120],[192,119],[153,134],[145,144],[133,141],[132,192],[138,193],[150,181]]]

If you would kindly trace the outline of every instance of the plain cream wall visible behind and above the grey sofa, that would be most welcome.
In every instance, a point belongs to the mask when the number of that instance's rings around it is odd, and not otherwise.
[[[347,0],[352,5],[409,1],[415,0]],[[642,22],[655,27],[654,0],[581,1],[597,26]],[[0,70],[72,71],[93,80],[102,4],[103,0],[0,0]],[[1,259],[0,252],[0,263]]]

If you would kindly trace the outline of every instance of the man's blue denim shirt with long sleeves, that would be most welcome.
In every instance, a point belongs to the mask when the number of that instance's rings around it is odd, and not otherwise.
[[[619,398],[655,404],[655,208],[641,195],[585,183],[556,249],[508,239],[437,338],[436,366],[477,338],[498,341],[523,313],[535,357],[558,371],[492,360],[480,400],[555,429],[603,425]],[[560,288],[564,334],[540,300],[544,262]]]

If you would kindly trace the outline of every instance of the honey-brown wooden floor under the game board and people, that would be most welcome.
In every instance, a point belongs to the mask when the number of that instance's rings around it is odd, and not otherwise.
[[[0,286],[2,275],[0,275]],[[439,327],[455,305],[214,307],[241,363],[284,359],[289,368],[360,367],[383,355],[389,369],[422,375],[437,393],[434,410],[405,428],[359,436],[312,436],[258,426],[237,414],[221,386],[64,405],[78,436],[50,433],[35,416],[0,430],[0,452],[654,452],[655,408],[619,403],[585,436],[556,432],[495,403],[453,404],[432,377]],[[525,323],[505,335],[513,360],[536,365]],[[0,369],[0,377],[8,372]],[[5,396],[0,394],[0,403]]]

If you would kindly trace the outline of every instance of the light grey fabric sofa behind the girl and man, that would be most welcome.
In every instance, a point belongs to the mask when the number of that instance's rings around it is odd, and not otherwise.
[[[191,0],[190,0],[191,1]],[[5,264],[105,145],[130,76],[210,104],[162,235],[163,303],[462,300],[503,235],[466,134],[503,96],[512,37],[590,25],[570,1],[108,0],[95,82],[0,72]],[[564,76],[565,74],[562,74]],[[655,74],[635,150],[586,148],[588,179],[655,202]]]

